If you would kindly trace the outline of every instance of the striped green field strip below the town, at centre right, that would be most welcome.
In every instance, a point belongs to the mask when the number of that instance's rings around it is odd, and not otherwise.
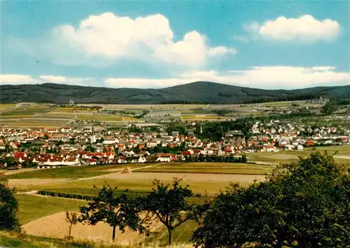
[[[274,169],[271,165],[243,163],[166,163],[136,172],[186,172],[210,174],[269,174]]]

